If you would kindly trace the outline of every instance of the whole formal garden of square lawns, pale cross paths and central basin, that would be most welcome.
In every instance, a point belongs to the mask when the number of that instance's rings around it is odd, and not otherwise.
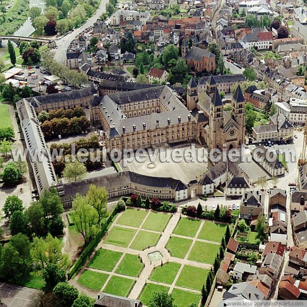
[[[178,307],[199,303],[226,225],[180,213],[126,209],[115,218],[85,268],[87,289],[140,299],[171,293]]]

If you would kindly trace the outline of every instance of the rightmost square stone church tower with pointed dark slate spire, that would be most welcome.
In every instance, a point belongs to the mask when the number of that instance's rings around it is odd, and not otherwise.
[[[238,85],[232,97],[231,116],[240,126],[238,142],[239,145],[242,145],[245,142],[245,99],[240,85]]]

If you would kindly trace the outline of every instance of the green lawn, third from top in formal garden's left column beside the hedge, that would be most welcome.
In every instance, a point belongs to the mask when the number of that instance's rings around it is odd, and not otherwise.
[[[89,267],[112,272],[123,253],[99,249],[90,262]]]

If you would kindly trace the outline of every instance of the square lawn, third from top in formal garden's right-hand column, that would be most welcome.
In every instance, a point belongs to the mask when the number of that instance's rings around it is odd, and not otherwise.
[[[206,269],[184,266],[176,286],[201,291],[203,284],[206,284],[208,273],[209,270]]]

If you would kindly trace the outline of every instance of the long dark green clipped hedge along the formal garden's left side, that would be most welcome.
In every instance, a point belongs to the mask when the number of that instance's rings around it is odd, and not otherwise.
[[[106,218],[106,220],[102,223],[100,231],[95,235],[95,237],[91,240],[91,242],[85,247],[80,257],[71,267],[69,273],[67,274],[68,279],[71,279],[76,272],[79,272],[81,268],[84,266],[85,262],[89,257],[93,254],[95,248],[102,240],[105,235],[109,224],[111,224],[112,218],[117,214],[117,207],[113,210],[113,212]]]

